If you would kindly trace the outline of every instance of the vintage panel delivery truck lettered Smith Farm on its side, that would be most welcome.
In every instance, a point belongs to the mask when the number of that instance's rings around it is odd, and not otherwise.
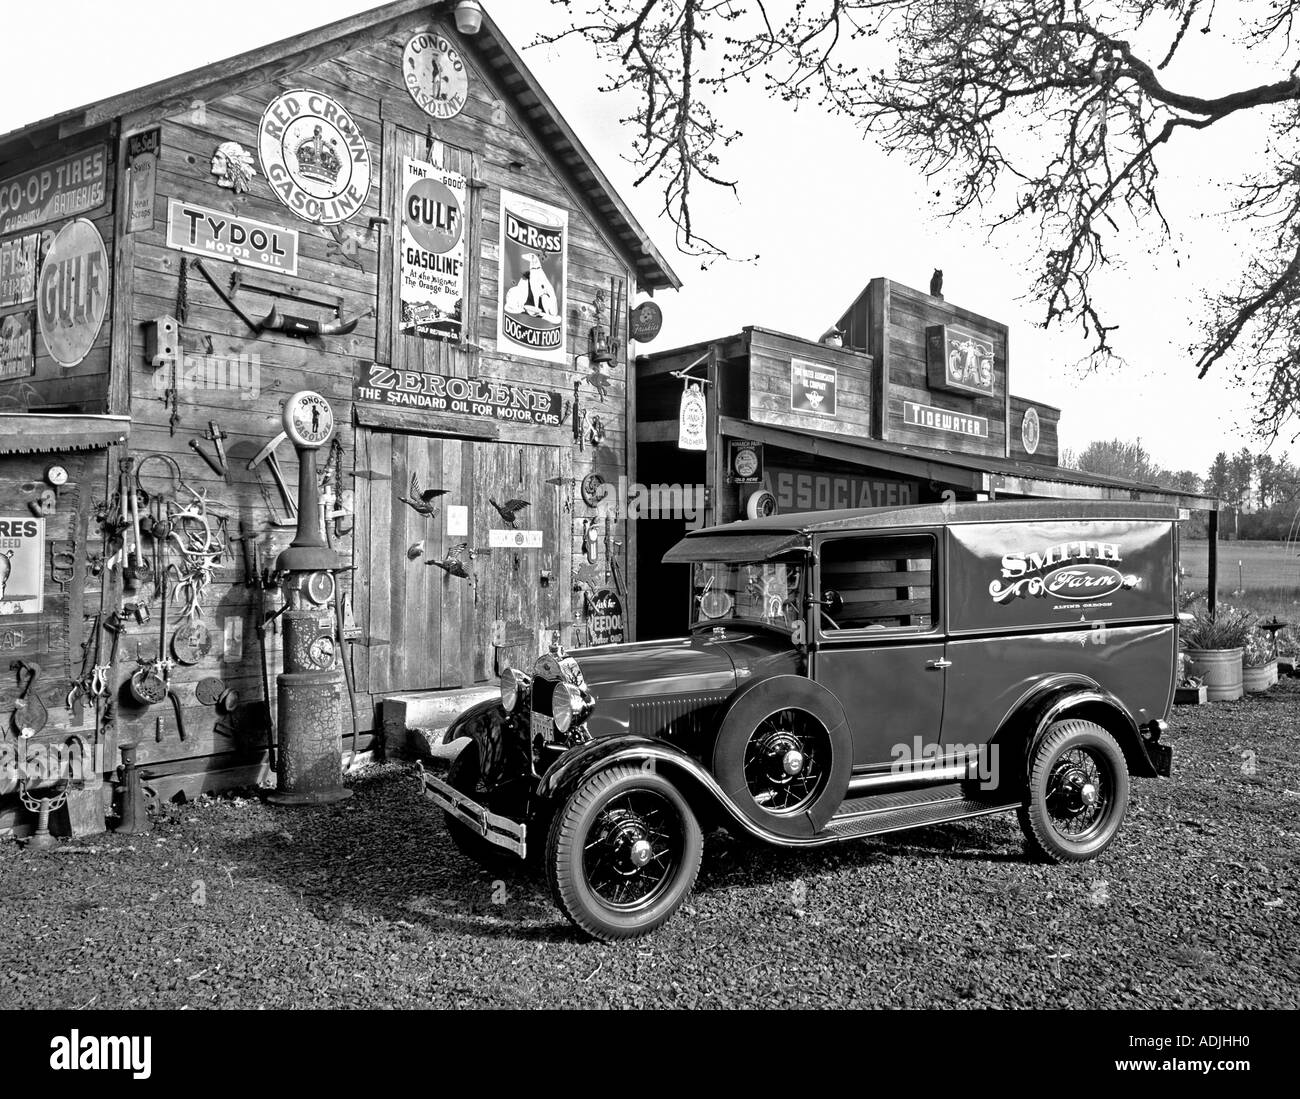
[[[689,637],[507,670],[422,787],[599,939],[681,905],[702,826],[812,847],[1014,810],[1034,854],[1096,858],[1130,776],[1170,773],[1178,519],[1011,501],[696,531],[664,557],[690,564]]]

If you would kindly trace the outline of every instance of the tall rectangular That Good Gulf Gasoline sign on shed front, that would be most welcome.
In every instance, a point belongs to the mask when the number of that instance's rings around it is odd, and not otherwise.
[[[402,332],[459,339],[465,299],[465,177],[402,161]]]

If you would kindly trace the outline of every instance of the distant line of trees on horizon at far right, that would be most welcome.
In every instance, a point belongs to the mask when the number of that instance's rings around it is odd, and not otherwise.
[[[1240,538],[1294,537],[1300,511],[1300,467],[1284,455],[1253,454],[1242,447],[1236,454],[1221,450],[1205,476],[1192,470],[1166,470],[1152,458],[1141,441],[1098,440],[1083,450],[1066,450],[1061,464],[1071,470],[1122,477],[1176,492],[1214,496],[1223,501],[1227,523],[1223,529]]]

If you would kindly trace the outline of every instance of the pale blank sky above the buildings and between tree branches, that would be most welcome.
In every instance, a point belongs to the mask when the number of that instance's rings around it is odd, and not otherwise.
[[[174,0],[62,0],[8,7],[0,133],[372,5],[224,0],[204,9]],[[1039,245],[1031,233],[991,239],[974,216],[937,215],[932,199],[936,190],[942,196],[941,183],[927,183],[852,122],[814,105],[796,112],[757,88],[724,100],[724,124],[745,134],[720,169],[737,181],[738,192],[701,190],[694,217],[732,254],[759,258],[705,269],[675,250],[660,191],[651,182],[633,187],[630,134],[619,120],[634,104],[593,95],[602,70],[589,47],[571,39],[526,48],[559,18],[545,0],[485,0],[485,7],[682,280],[680,291],[656,294],[664,326],[644,350],[751,324],[816,339],[871,278],[926,289],[931,272],[942,268],[950,303],[1010,326],[1011,391],[1062,410],[1063,449],[1140,440],[1161,466],[1202,476],[1219,450],[1264,449],[1249,433],[1249,394],[1230,382],[1222,364],[1197,380],[1187,351],[1205,291],[1239,269],[1244,238],[1223,212],[1236,173],[1264,147],[1258,120],[1216,127],[1209,140],[1202,135],[1169,150],[1161,186],[1173,246],[1157,247],[1154,234],[1140,232],[1126,232],[1118,242],[1123,264],[1098,289],[1109,323],[1119,325],[1112,342],[1124,363],[1096,372],[1082,365],[1087,345],[1076,329],[1041,328],[1043,308],[1027,297]],[[1170,86],[1205,92],[1284,75],[1274,72],[1277,59],[1225,52],[1196,35],[1184,55],[1164,74]],[[1300,447],[1287,445],[1295,430],[1270,453],[1300,457]]]

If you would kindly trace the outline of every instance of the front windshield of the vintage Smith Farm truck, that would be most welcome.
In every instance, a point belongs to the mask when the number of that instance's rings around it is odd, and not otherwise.
[[[802,618],[801,561],[697,561],[692,568],[692,627],[746,622],[790,631]]]

